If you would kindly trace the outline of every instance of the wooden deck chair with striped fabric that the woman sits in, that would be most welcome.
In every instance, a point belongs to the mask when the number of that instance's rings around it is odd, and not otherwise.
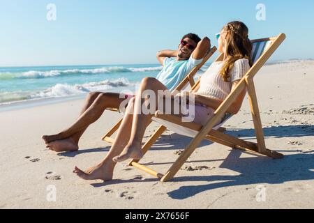
[[[250,70],[246,73],[243,79],[239,82],[237,87],[228,95],[228,97],[224,100],[224,102],[218,107],[216,110],[214,117],[211,118],[205,125],[199,125],[197,123],[183,123],[181,118],[178,116],[172,115],[164,115],[162,112],[156,112],[154,121],[158,121],[158,123],[170,123],[171,125],[177,125],[180,129],[188,130],[188,134],[193,136],[192,141],[190,144],[185,148],[184,152],[181,153],[179,158],[177,159],[172,167],[167,171],[166,174],[160,174],[158,171],[154,171],[153,169],[149,169],[149,167],[145,167],[144,165],[140,164],[140,160],[132,160],[129,164],[130,166],[136,167],[142,171],[155,176],[156,178],[160,178],[160,181],[166,182],[168,180],[172,180],[174,176],[177,174],[179,169],[183,166],[186,162],[188,157],[192,155],[195,151],[197,146],[200,145],[203,139],[207,139],[209,141],[216,142],[218,144],[223,144],[224,146],[228,146],[230,148],[237,148],[244,151],[250,151],[255,153],[256,155],[266,155],[268,157],[272,157],[274,159],[283,158],[281,153],[277,153],[276,151],[271,151],[266,148],[265,140],[264,140],[264,132],[262,129],[262,122],[260,118],[260,111],[257,104],[257,96],[255,92],[255,86],[253,82],[253,77],[257,74],[257,72],[264,66],[264,63],[267,62],[269,57],[274,54],[276,49],[283,43],[285,40],[285,34],[281,33],[280,35],[274,38],[264,38],[259,40],[253,40],[253,51],[251,54],[253,60],[253,66]],[[216,61],[222,61],[223,54],[218,56]],[[200,83],[200,80],[197,84]],[[197,84],[193,87],[196,88]],[[239,96],[241,91],[244,89],[248,90],[248,98],[251,105],[251,114],[253,116],[253,123],[255,128],[255,134],[257,138],[257,143],[253,143],[251,141],[244,141],[242,139],[238,139],[237,137],[233,137],[229,134],[225,134],[223,132],[219,132],[214,129],[214,127],[218,128],[219,125],[217,123],[223,118],[222,123],[225,122],[226,119],[230,118],[230,114],[226,114],[227,109],[232,105],[235,98]],[[224,118],[225,117],[225,118]],[[155,141],[160,137],[163,132],[165,132],[167,128],[162,125],[155,134],[147,141],[144,145],[143,153],[147,153],[149,148],[155,143]]]

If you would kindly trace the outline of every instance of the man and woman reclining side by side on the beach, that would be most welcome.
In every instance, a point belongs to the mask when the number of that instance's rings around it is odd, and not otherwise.
[[[215,110],[237,86],[246,72],[251,68],[252,43],[248,39],[248,28],[242,22],[230,22],[223,26],[217,35],[218,50],[224,54],[223,61],[212,63],[207,72],[202,75],[200,84],[190,95],[195,100],[193,122],[204,125],[214,116]],[[107,153],[105,159],[96,165],[82,171],[75,167],[73,171],[84,180],[112,180],[114,167],[117,162],[128,159],[140,160],[143,157],[142,139],[153,114],[143,114],[140,110],[147,104],[148,98],[143,98],[146,90],[160,91],[173,90],[184,79],[210,49],[209,38],[200,40],[195,34],[184,36],[177,51],[159,52],[158,61],[164,66],[157,79],[147,77],[142,80],[140,89],[135,97],[129,98],[124,119],[117,133],[116,140]],[[176,57],[176,59],[172,59]],[[180,94],[184,97],[184,93]],[[237,114],[246,95],[246,89],[234,100],[227,113]],[[173,95],[174,96],[174,95]],[[59,134],[44,136],[43,139],[52,151],[77,151],[78,141],[91,123],[94,123],[107,108],[119,109],[121,102],[115,93],[90,93],[84,105],[80,118],[67,130]],[[176,100],[170,100],[172,108]],[[156,105],[158,100],[156,99]],[[155,111],[156,112],[156,111]],[[173,112],[173,111],[172,111]],[[180,111],[181,112],[181,111]],[[186,115],[186,114],[185,114]]]

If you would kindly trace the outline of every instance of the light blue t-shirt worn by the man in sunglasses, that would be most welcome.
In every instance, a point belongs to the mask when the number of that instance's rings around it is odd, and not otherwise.
[[[167,89],[173,91],[195,66],[202,63],[202,60],[195,60],[192,56],[186,61],[176,61],[175,58],[166,58],[163,61],[163,70],[159,72],[156,79],[163,83]]]

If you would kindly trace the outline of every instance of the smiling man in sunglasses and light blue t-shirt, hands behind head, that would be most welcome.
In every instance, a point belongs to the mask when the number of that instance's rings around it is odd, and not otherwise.
[[[157,59],[163,70],[157,76],[158,81],[173,91],[178,84],[202,62],[211,47],[209,38],[202,40],[196,34],[184,36],[177,50],[163,50],[157,53]],[[59,134],[43,136],[47,148],[52,151],[78,151],[79,141],[89,125],[96,122],[105,109],[119,109],[126,98],[119,93],[89,93],[78,120],[67,130]]]

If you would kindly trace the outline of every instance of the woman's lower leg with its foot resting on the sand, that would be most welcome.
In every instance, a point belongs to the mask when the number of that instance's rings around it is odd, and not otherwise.
[[[134,98],[130,100],[116,140],[114,141],[114,144],[112,145],[112,148],[110,149],[105,159],[95,167],[87,169],[87,171],[82,171],[78,167],[75,167],[73,172],[77,174],[77,176],[84,180],[112,180],[114,167],[117,164],[117,162],[113,162],[112,159],[124,150],[130,139],[130,132],[133,122],[134,102]]]

